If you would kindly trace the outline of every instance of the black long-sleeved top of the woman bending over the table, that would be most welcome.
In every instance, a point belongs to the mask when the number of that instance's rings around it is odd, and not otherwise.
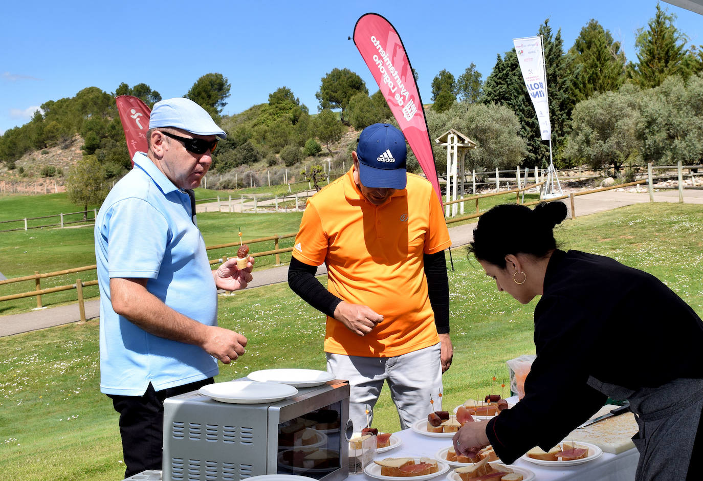
[[[600,409],[607,396],[589,376],[631,390],[703,378],[703,323],[693,309],[654,276],[586,252],[550,258],[534,343],[524,398],[486,426],[505,463],[536,445],[551,449]]]

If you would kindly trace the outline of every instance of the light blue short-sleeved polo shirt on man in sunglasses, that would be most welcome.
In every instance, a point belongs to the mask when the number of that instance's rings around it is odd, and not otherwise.
[[[217,360],[200,347],[143,331],[112,310],[110,278],[148,278],[167,306],[217,325],[217,288],[191,200],[146,157],[105,198],[95,224],[100,285],[100,390],[141,396],[215,376]]]

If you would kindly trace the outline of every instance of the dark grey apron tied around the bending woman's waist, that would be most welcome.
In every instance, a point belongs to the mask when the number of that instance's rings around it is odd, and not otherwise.
[[[632,437],[640,461],[636,480],[685,480],[703,409],[703,379],[676,379],[633,391],[588,378],[613,399],[628,399],[640,432]]]

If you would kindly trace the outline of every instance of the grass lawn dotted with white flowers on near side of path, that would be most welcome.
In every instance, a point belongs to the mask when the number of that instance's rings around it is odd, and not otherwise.
[[[264,230],[264,221],[257,221],[262,222],[259,225],[248,215],[236,219],[252,222],[243,223],[245,236]],[[216,214],[212,225],[202,228],[209,232],[207,236],[215,235],[226,230],[222,226],[226,222],[228,218]],[[236,229],[233,226],[229,235],[236,236]],[[662,278],[703,315],[702,230],[701,206],[662,203],[567,220],[555,233],[564,248],[609,255]],[[221,236],[217,242],[226,238],[224,233]],[[449,282],[455,354],[443,378],[447,409],[469,397],[501,394],[501,381],[508,376],[505,361],[534,353],[536,300],[523,306],[498,293],[479,264],[467,258],[465,249],[454,249],[453,259],[455,270],[449,272]],[[245,356],[231,366],[221,366],[218,381],[262,368],[325,368],[323,316],[285,283],[221,296],[219,302],[220,325],[245,334],[249,344]],[[496,383],[491,380],[494,375]],[[117,413],[98,386],[97,321],[0,338],[2,477],[122,479]],[[508,395],[507,388],[504,394]],[[399,429],[387,390],[376,406],[374,425]]]

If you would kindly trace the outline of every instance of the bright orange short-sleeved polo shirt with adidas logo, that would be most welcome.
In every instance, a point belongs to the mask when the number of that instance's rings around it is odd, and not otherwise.
[[[328,316],[325,352],[394,357],[437,344],[423,254],[451,240],[432,184],[408,174],[406,188],[376,206],[354,184],[352,169],[309,198],[292,255],[312,266],[324,262],[330,293],[367,305],[383,321],[360,337]]]

